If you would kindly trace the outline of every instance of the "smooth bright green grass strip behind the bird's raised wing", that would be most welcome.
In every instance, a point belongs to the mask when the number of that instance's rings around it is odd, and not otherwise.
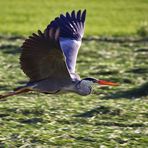
[[[147,0],[1,0],[0,34],[28,35],[44,30],[56,16],[87,9],[86,35],[135,35],[148,24]]]

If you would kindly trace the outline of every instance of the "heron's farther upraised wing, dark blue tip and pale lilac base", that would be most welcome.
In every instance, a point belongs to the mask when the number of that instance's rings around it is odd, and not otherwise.
[[[66,63],[71,73],[75,72],[75,65],[81,39],[84,33],[86,10],[81,12],[61,14],[55,18],[46,28],[45,35],[48,36],[51,27],[60,28],[60,46],[66,57]]]

